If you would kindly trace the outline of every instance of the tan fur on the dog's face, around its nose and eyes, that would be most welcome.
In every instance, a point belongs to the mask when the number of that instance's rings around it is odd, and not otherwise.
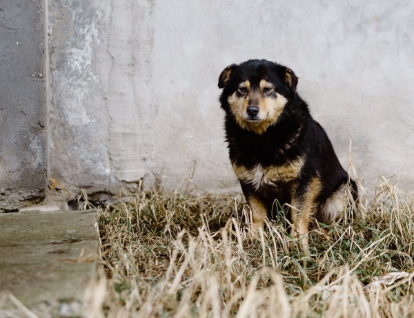
[[[288,102],[286,97],[279,93],[273,91],[264,93],[266,87],[273,88],[264,79],[260,82],[259,89],[251,89],[250,82],[246,81],[239,85],[239,88],[247,89],[246,94],[241,95],[239,91],[236,91],[227,100],[237,124],[243,129],[253,131],[258,135],[262,135],[271,124],[277,122]],[[252,104],[259,107],[259,113],[257,114],[259,120],[252,121],[248,119],[247,107]]]

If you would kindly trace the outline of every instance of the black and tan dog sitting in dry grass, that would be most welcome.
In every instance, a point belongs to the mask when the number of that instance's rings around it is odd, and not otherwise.
[[[253,216],[250,234],[277,212],[277,201],[287,203],[290,233],[307,249],[309,228],[341,218],[357,186],[296,86],[293,71],[264,59],[230,65],[219,77],[230,161]]]

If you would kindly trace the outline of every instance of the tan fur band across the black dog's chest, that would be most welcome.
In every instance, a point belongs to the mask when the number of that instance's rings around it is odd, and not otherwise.
[[[303,165],[304,159],[297,158],[284,165],[270,165],[269,167],[263,167],[258,163],[251,169],[234,163],[233,169],[239,180],[259,190],[264,186],[277,186],[296,180],[300,176]]]

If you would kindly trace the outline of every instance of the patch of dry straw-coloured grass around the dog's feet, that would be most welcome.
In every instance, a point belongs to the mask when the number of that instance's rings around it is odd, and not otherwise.
[[[311,232],[306,258],[282,218],[268,221],[255,242],[246,238],[248,207],[240,198],[142,191],[132,203],[99,209],[105,274],[90,310],[107,317],[411,317],[413,204],[380,180],[359,218]]]

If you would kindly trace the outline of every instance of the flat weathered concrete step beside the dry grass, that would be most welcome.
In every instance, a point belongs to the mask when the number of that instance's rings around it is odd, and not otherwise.
[[[96,211],[0,214],[0,317],[83,317]]]

